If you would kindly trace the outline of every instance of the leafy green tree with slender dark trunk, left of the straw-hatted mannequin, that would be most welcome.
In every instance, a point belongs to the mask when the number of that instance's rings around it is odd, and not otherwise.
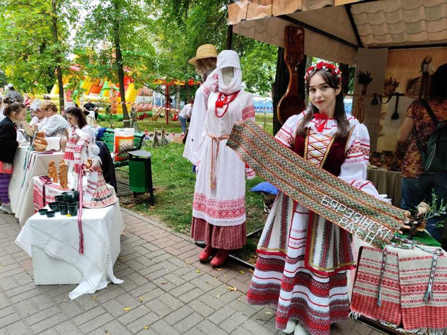
[[[85,10],[89,14],[75,38],[76,61],[90,77],[118,83],[124,100],[125,72],[137,84],[153,75],[146,6],[138,0],[98,0],[86,4]],[[125,105],[123,116],[129,120]]]

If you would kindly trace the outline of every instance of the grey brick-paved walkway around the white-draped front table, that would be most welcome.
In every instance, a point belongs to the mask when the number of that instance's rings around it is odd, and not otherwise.
[[[0,335],[270,335],[274,307],[245,302],[251,273],[197,261],[187,236],[122,209],[126,230],[115,275],[125,280],[75,300],[76,285],[35,286],[32,261],[14,240],[17,220],[0,214]],[[236,288],[236,291],[230,290]],[[379,335],[350,321],[334,335]]]

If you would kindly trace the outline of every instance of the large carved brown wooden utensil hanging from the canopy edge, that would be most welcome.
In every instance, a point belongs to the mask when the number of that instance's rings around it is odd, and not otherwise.
[[[289,85],[276,108],[279,122],[284,122],[292,115],[299,114],[306,109],[298,90],[298,65],[304,58],[304,29],[296,26],[287,26],[285,34],[284,62],[289,69]]]

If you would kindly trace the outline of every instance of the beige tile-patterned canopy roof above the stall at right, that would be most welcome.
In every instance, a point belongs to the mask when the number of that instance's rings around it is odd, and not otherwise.
[[[356,62],[358,47],[447,46],[447,0],[357,2],[239,0],[229,5],[228,22],[236,34],[279,46],[284,27],[301,25],[307,55],[346,64]]]

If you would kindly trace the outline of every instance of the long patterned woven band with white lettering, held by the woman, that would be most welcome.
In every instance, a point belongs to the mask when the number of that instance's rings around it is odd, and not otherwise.
[[[234,124],[226,145],[284,194],[376,248],[390,243],[405,220],[402,209],[312,164],[250,119]]]

